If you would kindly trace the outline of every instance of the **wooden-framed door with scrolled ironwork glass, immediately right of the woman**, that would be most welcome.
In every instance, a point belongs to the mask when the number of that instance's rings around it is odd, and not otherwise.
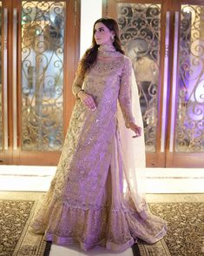
[[[110,0],[104,2],[104,11],[118,20],[122,46],[133,63],[140,94],[147,165],[164,166],[166,130],[161,132],[162,122],[165,121],[161,118],[161,112],[166,109],[162,110],[161,105],[167,95],[163,94],[161,86],[164,63],[162,55],[166,51],[163,47],[165,30],[161,24],[166,23],[166,17],[162,15],[162,1],[152,2]]]

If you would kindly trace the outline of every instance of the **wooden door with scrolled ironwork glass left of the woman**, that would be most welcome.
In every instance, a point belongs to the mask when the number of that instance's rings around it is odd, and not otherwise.
[[[10,106],[9,148],[0,160],[56,165],[75,103],[71,84],[79,57],[79,3],[7,1],[3,8],[9,11]]]

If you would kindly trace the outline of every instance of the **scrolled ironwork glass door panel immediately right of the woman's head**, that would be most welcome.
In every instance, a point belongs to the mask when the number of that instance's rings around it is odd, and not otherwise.
[[[132,60],[140,94],[146,152],[156,152],[161,4],[118,3],[121,40]]]

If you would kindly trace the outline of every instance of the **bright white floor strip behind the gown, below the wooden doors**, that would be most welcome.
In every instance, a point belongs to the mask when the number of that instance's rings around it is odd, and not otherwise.
[[[0,165],[0,191],[47,191],[56,166]],[[146,168],[146,193],[202,193],[204,168]]]

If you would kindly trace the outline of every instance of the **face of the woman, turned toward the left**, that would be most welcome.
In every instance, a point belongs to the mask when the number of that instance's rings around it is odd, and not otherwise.
[[[111,36],[115,36],[114,31],[109,30],[104,24],[95,24],[95,42],[96,44],[112,44]]]

